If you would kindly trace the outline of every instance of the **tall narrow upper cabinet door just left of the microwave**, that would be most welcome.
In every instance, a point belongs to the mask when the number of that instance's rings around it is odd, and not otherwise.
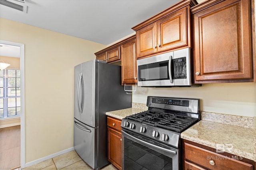
[[[122,84],[137,82],[136,40],[121,45]]]

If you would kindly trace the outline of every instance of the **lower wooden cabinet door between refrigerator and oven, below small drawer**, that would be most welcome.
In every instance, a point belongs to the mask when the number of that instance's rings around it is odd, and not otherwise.
[[[108,127],[108,161],[122,169],[122,134]]]

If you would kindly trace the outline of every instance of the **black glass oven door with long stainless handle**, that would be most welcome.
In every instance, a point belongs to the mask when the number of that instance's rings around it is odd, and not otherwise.
[[[123,170],[179,170],[180,150],[122,130]]]

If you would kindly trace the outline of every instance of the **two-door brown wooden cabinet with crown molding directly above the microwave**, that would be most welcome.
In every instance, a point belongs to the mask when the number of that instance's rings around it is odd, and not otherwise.
[[[190,47],[190,6],[195,4],[194,0],[178,2],[132,27],[136,31],[137,57]]]

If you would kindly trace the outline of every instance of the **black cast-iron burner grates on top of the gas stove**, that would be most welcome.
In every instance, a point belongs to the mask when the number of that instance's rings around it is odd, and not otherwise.
[[[127,116],[126,119],[179,133],[198,120],[193,117],[150,110]]]

